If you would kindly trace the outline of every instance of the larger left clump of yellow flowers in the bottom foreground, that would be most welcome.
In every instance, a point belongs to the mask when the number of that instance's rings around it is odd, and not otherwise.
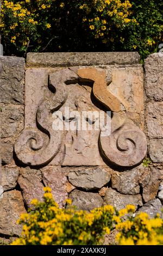
[[[93,245],[110,233],[118,215],[113,206],[103,206],[91,212],[76,210],[67,199],[67,209],[59,209],[51,188],[46,187],[43,202],[33,199],[35,211],[22,214],[22,236],[12,245]]]

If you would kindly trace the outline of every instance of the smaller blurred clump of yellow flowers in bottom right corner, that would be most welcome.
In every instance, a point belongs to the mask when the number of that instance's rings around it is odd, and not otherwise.
[[[149,218],[146,212],[117,223],[119,245],[163,245],[163,220],[159,215]]]

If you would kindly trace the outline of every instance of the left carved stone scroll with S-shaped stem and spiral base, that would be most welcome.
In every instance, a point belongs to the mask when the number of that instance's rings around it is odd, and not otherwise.
[[[49,84],[54,94],[47,97],[38,107],[36,113],[37,129],[23,130],[15,143],[17,158],[29,166],[40,166],[50,162],[58,153],[64,131],[52,129],[52,114],[67,99],[66,81],[75,80],[78,76],[72,70],[65,69],[49,75]]]

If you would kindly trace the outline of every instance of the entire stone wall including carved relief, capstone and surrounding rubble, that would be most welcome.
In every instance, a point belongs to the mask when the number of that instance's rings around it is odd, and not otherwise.
[[[65,207],[134,204],[150,216],[163,204],[163,57],[145,69],[139,54],[28,53],[0,57],[0,237],[20,234],[16,224],[43,187]],[[55,130],[53,113],[76,125],[70,111],[111,110],[111,134]],[[105,114],[104,114],[105,115]],[[86,116],[87,123],[96,123]],[[142,164],[151,157],[152,162]]]

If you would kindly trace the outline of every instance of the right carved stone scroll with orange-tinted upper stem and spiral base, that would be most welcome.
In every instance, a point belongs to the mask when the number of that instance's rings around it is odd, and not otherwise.
[[[105,71],[94,68],[79,69],[78,75],[94,82],[92,92],[106,109],[113,111],[110,136],[99,135],[102,154],[117,166],[129,167],[140,163],[147,153],[147,140],[135,123],[127,118],[122,103],[108,90]]]

